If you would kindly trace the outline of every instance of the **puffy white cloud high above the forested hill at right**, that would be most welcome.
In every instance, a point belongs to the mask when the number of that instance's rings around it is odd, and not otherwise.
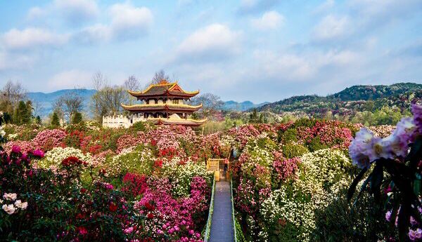
[[[314,28],[316,41],[343,39],[352,32],[350,19],[347,16],[326,15]]]

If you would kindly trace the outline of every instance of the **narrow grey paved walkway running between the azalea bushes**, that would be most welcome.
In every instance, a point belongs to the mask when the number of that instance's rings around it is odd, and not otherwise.
[[[234,241],[231,217],[230,182],[220,180],[215,183],[214,212],[212,213],[210,242]]]

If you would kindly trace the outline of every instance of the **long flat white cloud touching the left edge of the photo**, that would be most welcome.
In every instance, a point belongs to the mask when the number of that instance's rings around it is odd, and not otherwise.
[[[68,41],[67,34],[56,34],[47,29],[11,29],[1,36],[1,43],[10,50],[60,46]]]

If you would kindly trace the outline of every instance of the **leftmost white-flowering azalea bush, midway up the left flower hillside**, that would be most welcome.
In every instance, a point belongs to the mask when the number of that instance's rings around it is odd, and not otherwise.
[[[91,154],[84,154],[80,149],[73,147],[55,147],[51,151],[46,152],[44,159],[38,161],[37,166],[39,168],[57,168],[60,163],[70,157],[77,157],[81,161],[91,163]]]

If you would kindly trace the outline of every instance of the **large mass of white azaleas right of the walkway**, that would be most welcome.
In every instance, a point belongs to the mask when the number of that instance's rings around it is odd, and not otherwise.
[[[336,149],[321,149],[300,157],[298,179],[274,190],[261,206],[265,236],[267,231],[283,228],[279,238],[311,241],[315,229],[314,211],[324,208],[350,184],[345,171],[350,159]],[[276,225],[274,225],[276,224]],[[282,226],[281,226],[282,225]],[[278,227],[281,226],[281,227]],[[269,238],[262,238],[267,241]]]

